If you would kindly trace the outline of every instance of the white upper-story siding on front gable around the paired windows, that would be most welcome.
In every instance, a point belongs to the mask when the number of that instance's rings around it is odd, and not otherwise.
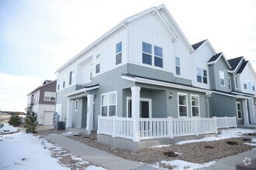
[[[181,78],[190,77],[190,51],[185,40],[172,41],[168,27],[157,14],[148,13],[129,23],[129,63],[146,66],[155,70],[175,73],[175,57],[180,58]],[[178,34],[178,33],[177,33]],[[179,36],[179,35],[178,35]],[[182,36],[179,36],[182,37]],[[152,45],[152,65],[142,63],[142,42]],[[154,46],[163,49],[163,68],[154,66]]]

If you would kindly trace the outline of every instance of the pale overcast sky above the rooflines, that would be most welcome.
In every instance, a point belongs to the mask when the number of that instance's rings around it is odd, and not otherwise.
[[[123,19],[164,4],[191,44],[256,68],[254,0],[0,0],[0,110],[25,111],[26,94]]]

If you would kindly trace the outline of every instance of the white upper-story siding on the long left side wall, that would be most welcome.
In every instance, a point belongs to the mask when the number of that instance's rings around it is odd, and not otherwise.
[[[96,46],[82,53],[78,56],[72,63],[58,72],[57,84],[60,84],[60,90],[62,88],[62,83],[65,81],[65,87],[69,87],[69,73],[74,72],[73,84],[83,85],[89,83],[92,77],[98,76],[101,73],[106,73],[118,66],[123,66],[127,62],[126,57],[126,27],[121,27],[116,32],[107,36],[105,39],[100,41]],[[122,63],[116,65],[116,44],[122,42]],[[96,56],[100,55],[100,73],[95,73]]]

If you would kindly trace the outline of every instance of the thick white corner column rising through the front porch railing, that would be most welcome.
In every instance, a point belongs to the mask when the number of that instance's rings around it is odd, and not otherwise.
[[[133,141],[140,141],[139,139],[140,87],[131,87],[131,90],[132,90]]]

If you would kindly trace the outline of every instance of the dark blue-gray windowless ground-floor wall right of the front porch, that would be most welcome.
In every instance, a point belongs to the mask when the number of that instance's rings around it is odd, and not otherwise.
[[[212,93],[209,97],[210,117],[237,116],[236,98]]]

